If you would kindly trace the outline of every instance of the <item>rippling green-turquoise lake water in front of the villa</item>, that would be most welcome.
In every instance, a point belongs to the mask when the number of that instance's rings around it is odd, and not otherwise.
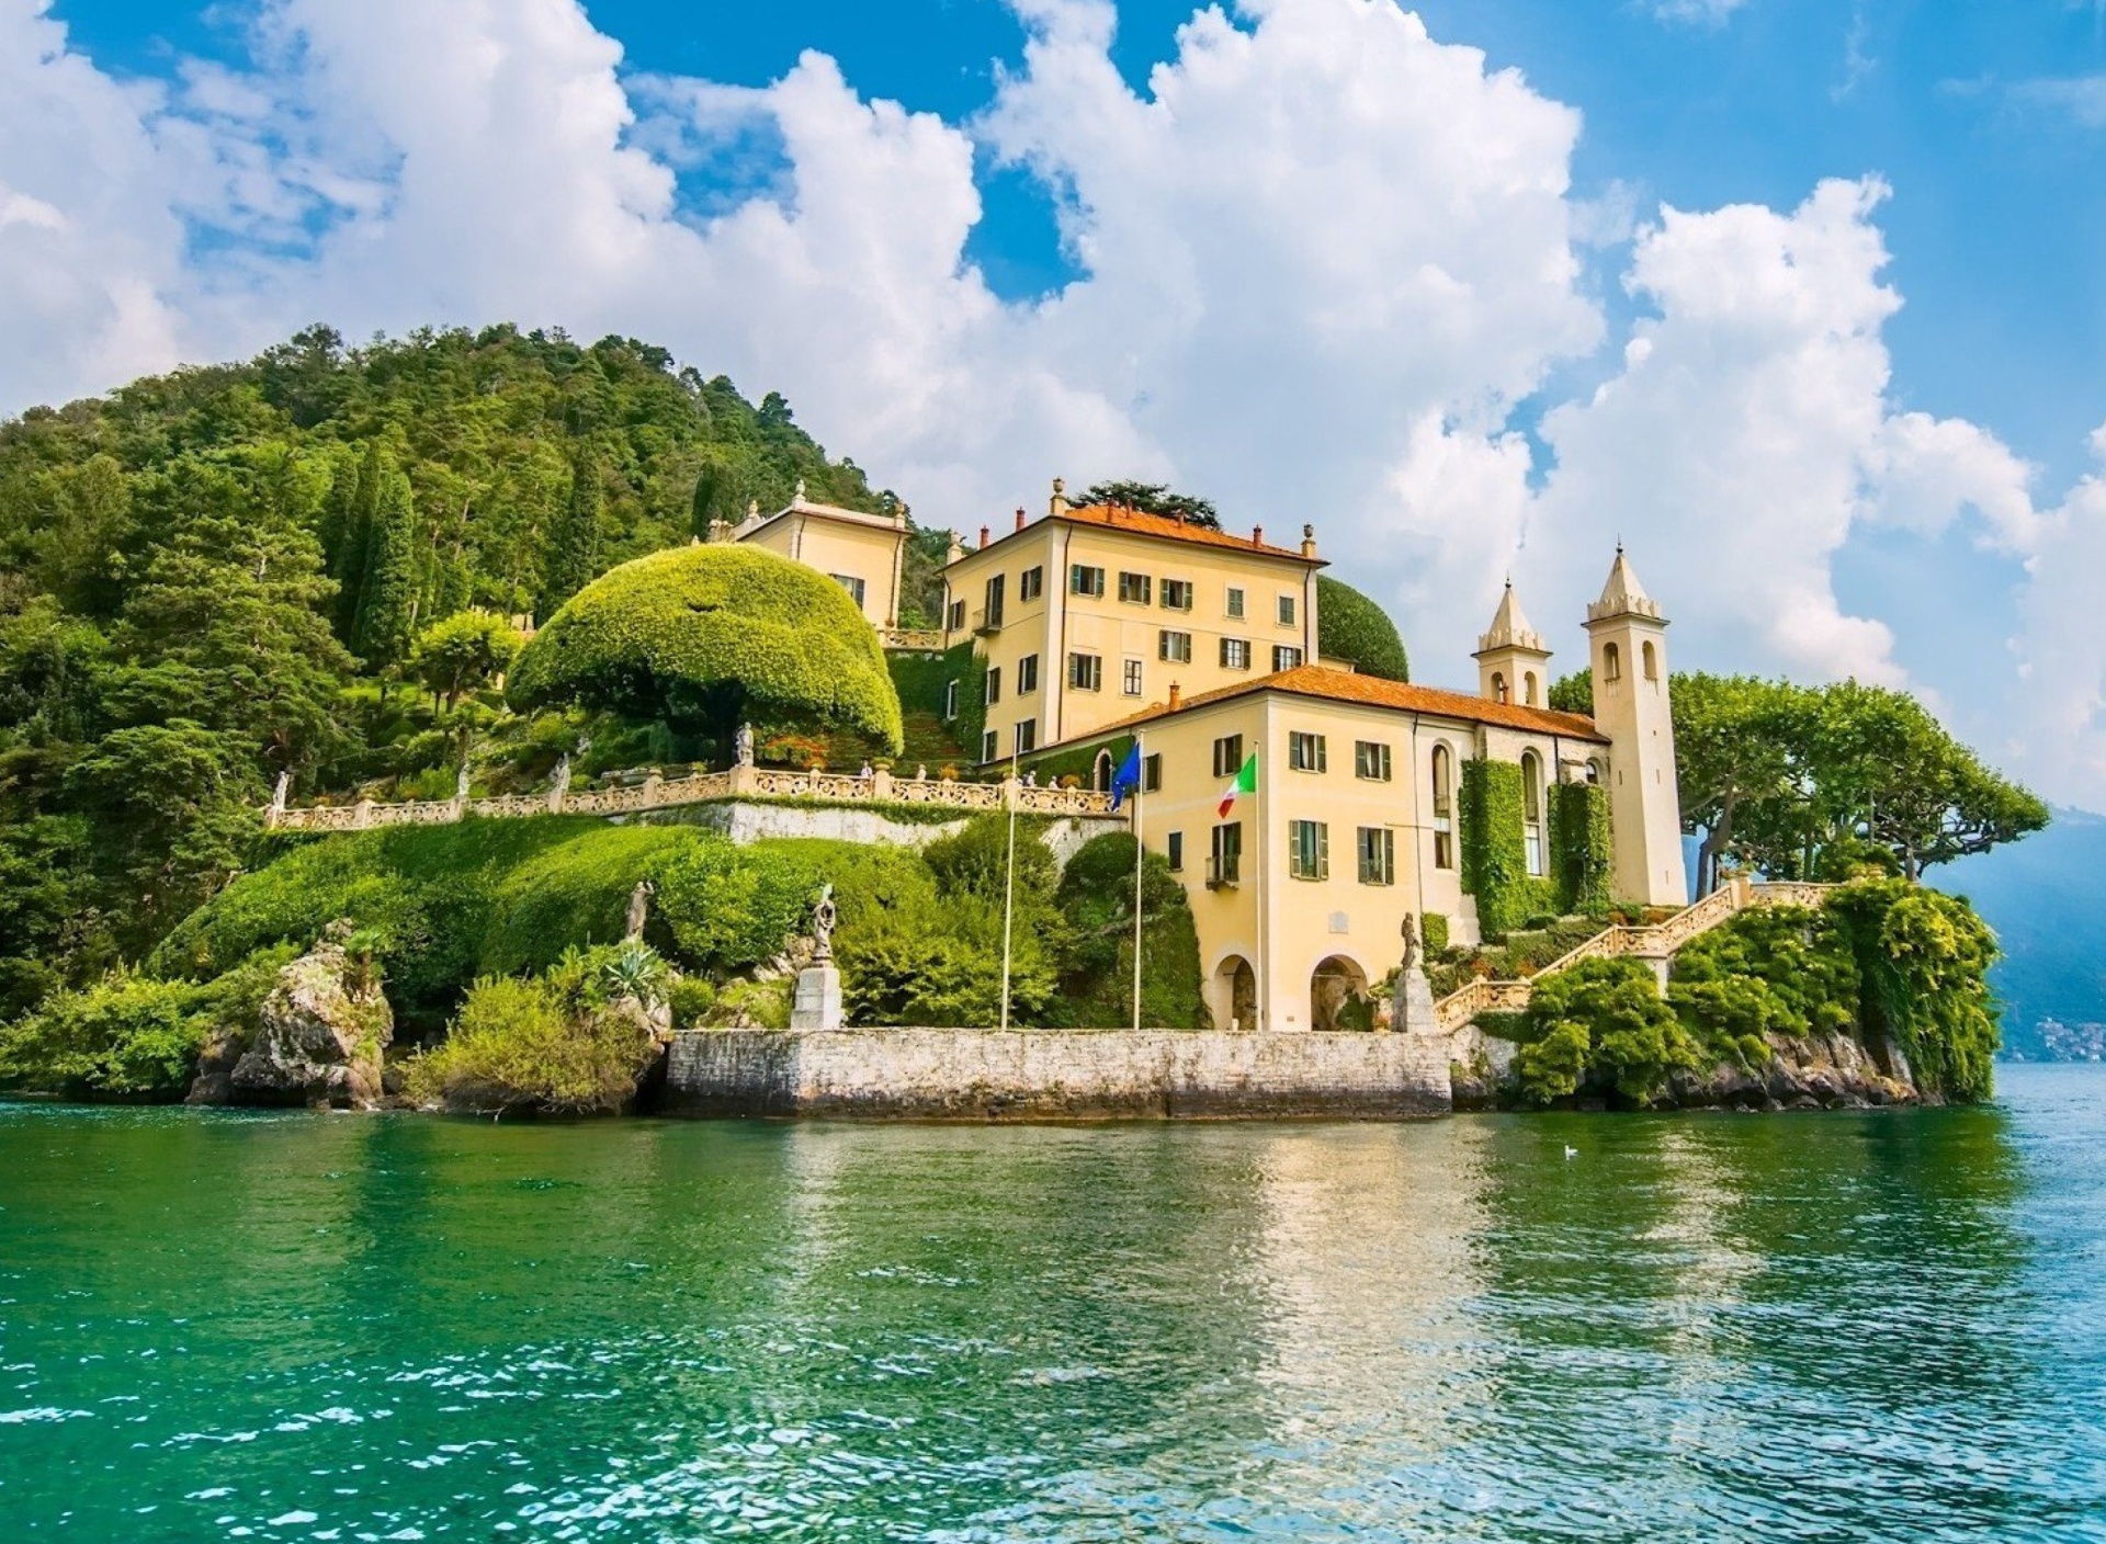
[[[1428,1125],[13,1106],[0,1369],[0,1540],[2106,1540],[2106,1072]]]

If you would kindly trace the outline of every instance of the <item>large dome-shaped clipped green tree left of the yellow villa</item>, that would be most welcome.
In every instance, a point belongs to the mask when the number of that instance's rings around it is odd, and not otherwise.
[[[762,548],[672,548],[611,569],[520,651],[508,695],[718,739],[741,720],[847,729],[899,754],[876,630],[838,583]]]

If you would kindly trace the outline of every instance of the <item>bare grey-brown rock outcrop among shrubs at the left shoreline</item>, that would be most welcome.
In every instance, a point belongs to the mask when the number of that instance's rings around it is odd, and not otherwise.
[[[312,952],[278,973],[255,1043],[225,1074],[227,1102],[358,1110],[381,1104],[381,1057],[394,1038],[394,1011],[371,961],[345,950],[350,933],[350,923],[331,923]],[[200,1085],[211,1070],[208,1060]]]

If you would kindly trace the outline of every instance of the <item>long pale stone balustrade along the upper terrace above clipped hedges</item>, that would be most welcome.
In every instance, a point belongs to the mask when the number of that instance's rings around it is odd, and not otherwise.
[[[1112,800],[1089,788],[1034,788],[1021,781],[960,784],[937,777],[897,777],[878,769],[863,773],[790,771],[781,767],[733,767],[689,777],[647,775],[619,788],[585,788],[545,794],[503,794],[497,798],[419,798],[381,805],[312,805],[263,811],[270,830],[345,832],[379,826],[446,826],[476,819],[524,815],[636,815],[651,809],[703,805],[718,798],[811,798],[830,805],[933,805],[958,811],[1011,809],[1030,815],[1110,815]]]

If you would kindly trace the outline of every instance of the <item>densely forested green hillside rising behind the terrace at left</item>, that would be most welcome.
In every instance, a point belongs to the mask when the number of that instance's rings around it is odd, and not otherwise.
[[[798,480],[893,503],[773,392],[516,326],[316,326],[0,423],[0,1017],[219,889],[280,773],[451,786],[497,621]]]

